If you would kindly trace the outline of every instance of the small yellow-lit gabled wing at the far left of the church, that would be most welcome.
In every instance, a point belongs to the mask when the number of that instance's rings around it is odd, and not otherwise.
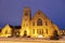
[[[12,28],[6,25],[5,27],[2,28],[0,32],[0,37],[11,37]]]

